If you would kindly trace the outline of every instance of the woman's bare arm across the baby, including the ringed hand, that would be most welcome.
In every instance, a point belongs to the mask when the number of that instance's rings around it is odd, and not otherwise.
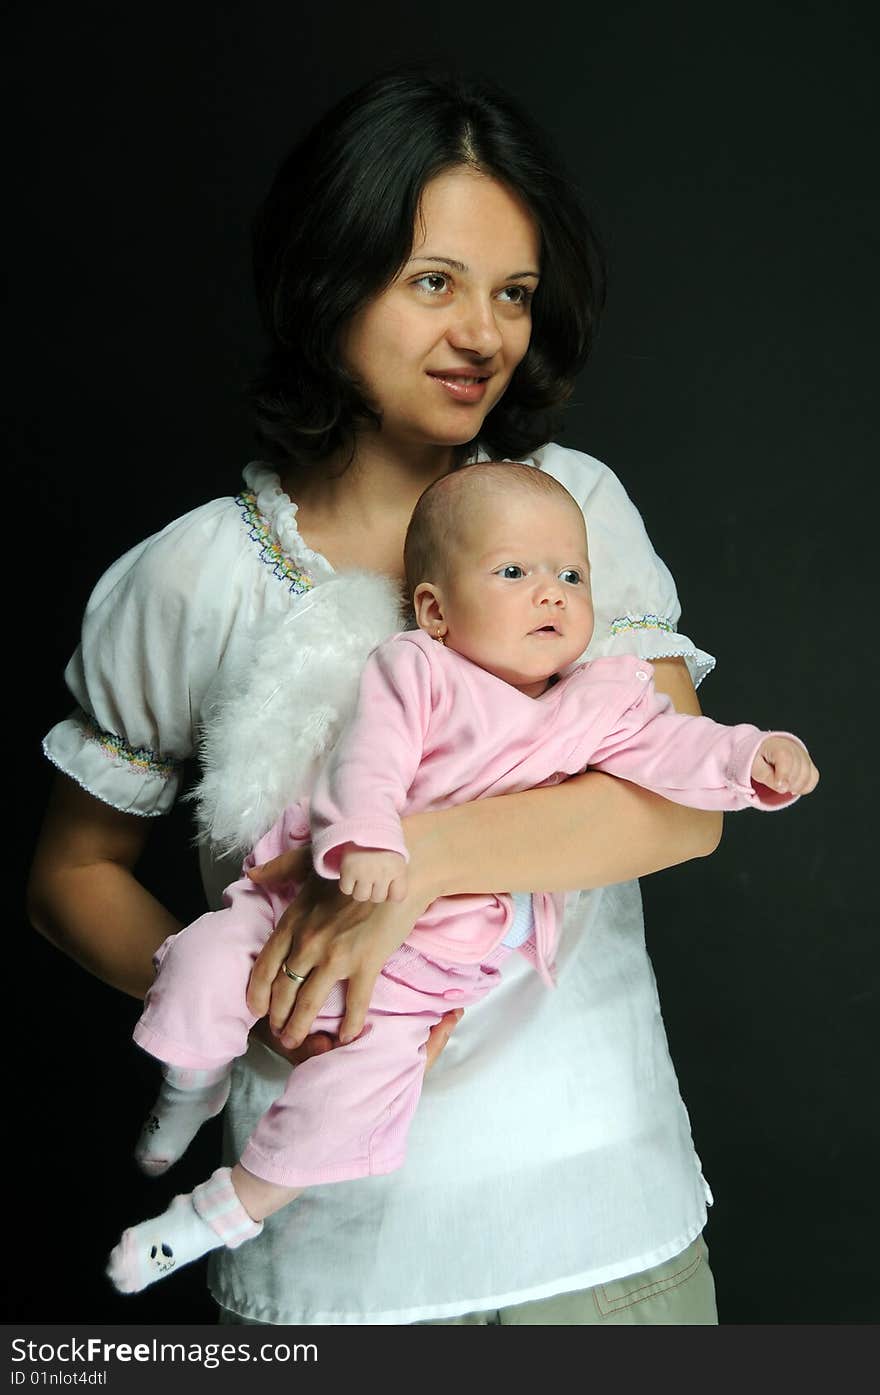
[[[683,660],[658,660],[654,674],[657,689],[678,711],[700,714]],[[371,907],[325,887],[319,904],[291,903],[261,951],[248,1002],[254,1011],[272,1004],[272,1020],[287,1046],[304,1039],[332,985],[342,979],[347,990],[340,1038],[356,1036],[379,967],[437,897],[570,891],[647,876],[713,852],[721,815],[589,773],[552,788],[411,815],[403,829],[410,851],[406,901]],[[285,858],[276,858],[251,875],[283,880],[282,864]],[[333,905],[343,925],[333,919]],[[307,983],[290,982],[280,971],[285,961],[307,975]]]

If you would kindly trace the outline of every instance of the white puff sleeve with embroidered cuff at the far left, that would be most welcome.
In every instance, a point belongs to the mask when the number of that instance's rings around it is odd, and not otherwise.
[[[43,741],[64,774],[114,809],[166,813],[194,755],[205,692],[241,614],[241,527],[215,499],[102,576],[64,681],[77,702]]]

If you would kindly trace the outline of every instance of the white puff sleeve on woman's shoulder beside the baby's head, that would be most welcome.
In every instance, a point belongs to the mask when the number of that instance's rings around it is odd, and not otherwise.
[[[675,582],[616,474],[593,456],[559,445],[538,451],[536,463],[565,484],[587,520],[595,628],[584,657],[681,657],[699,686],[715,660],[679,633]]]

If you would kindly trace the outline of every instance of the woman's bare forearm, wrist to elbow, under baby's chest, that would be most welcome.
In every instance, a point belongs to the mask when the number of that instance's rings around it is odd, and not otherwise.
[[[589,773],[404,820],[411,877],[430,900],[476,891],[575,891],[713,852],[721,816]]]

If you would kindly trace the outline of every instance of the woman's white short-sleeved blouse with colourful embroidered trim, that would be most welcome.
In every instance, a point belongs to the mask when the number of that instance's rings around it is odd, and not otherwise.
[[[679,603],[642,519],[601,462],[547,445],[533,463],[580,502],[595,632],[589,657],[714,660],[678,633]],[[278,476],[138,544],[102,578],[66,679],[78,707],[46,755],[131,813],[174,802],[206,699],[248,635],[332,575],[305,547]],[[255,656],[257,661],[258,656]],[[236,868],[204,859],[206,890]],[[711,1202],[669,1060],[637,883],[570,896],[547,989],[520,956],[470,1007],[434,1070],[406,1165],[314,1187],[259,1239],[215,1251],[225,1307],[278,1324],[404,1324],[503,1307],[636,1274],[683,1250]],[[283,1087],[259,1043],[237,1064],[227,1161]]]

